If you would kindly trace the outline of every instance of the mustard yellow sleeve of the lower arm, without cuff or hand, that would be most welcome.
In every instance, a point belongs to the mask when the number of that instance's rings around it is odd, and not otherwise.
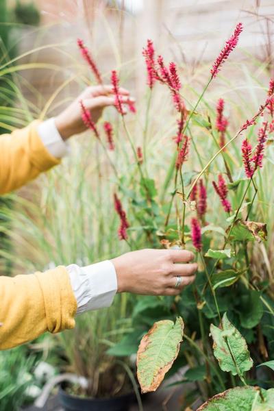
[[[75,327],[77,302],[64,266],[29,275],[0,276],[0,349]]]

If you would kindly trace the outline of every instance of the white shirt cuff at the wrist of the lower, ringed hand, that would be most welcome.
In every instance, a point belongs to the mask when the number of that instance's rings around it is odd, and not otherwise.
[[[71,264],[66,269],[77,301],[77,314],[111,306],[117,292],[116,271],[111,261],[85,267]]]

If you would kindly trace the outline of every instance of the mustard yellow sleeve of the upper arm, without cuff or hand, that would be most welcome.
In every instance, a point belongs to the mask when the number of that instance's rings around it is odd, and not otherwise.
[[[12,134],[0,136],[0,194],[23,186],[42,173],[60,163],[45,148],[34,121]]]

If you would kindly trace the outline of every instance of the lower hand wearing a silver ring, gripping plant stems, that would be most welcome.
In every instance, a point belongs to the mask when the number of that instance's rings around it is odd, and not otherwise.
[[[113,258],[118,292],[134,292],[142,295],[177,295],[195,280],[197,264],[182,264],[193,260],[186,250],[144,249]],[[175,288],[176,276],[182,277]]]

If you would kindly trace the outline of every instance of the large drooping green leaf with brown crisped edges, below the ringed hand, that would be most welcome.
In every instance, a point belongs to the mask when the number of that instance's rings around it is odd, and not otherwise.
[[[177,358],[183,339],[184,321],[162,320],[142,337],[137,353],[137,377],[142,393],[157,390]]]

